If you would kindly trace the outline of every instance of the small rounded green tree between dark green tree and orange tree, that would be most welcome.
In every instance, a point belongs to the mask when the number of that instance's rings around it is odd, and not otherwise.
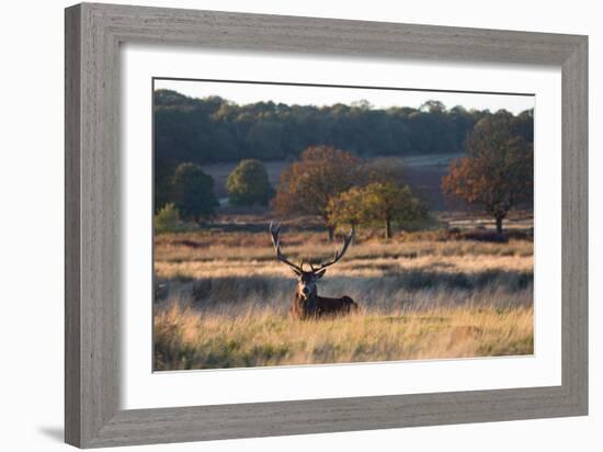
[[[268,205],[274,190],[260,160],[247,159],[228,174],[228,202],[234,205]]]

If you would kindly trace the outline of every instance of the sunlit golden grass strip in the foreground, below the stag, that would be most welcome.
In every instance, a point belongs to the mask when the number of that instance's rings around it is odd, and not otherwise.
[[[155,318],[157,370],[533,353],[530,306],[365,312],[299,321],[270,308],[231,316],[170,304]]]

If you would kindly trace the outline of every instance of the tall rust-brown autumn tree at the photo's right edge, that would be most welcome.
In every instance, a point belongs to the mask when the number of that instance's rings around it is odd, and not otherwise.
[[[520,135],[513,115],[498,112],[476,124],[465,150],[467,157],[451,163],[442,190],[480,206],[502,234],[509,211],[533,200],[533,146]]]

